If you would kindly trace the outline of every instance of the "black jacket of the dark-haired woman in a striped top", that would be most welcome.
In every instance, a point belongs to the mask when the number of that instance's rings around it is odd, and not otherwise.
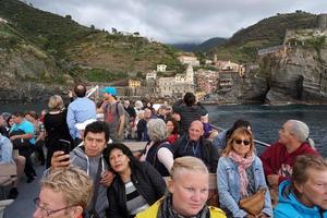
[[[148,162],[142,161],[138,167],[132,169],[131,180],[138,193],[148,205],[161,198],[166,192],[166,182],[159,172]],[[116,175],[108,189],[110,218],[129,218],[126,207],[125,186],[119,174]]]

